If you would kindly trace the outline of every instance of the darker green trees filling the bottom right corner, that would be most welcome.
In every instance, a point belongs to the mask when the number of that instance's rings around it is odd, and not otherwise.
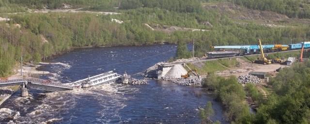
[[[257,112],[256,124],[310,123],[310,62],[296,63],[271,80],[274,93]]]

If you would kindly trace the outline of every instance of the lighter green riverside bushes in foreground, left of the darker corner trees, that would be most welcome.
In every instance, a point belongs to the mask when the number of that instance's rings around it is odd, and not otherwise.
[[[216,99],[222,102],[228,120],[233,124],[251,124],[253,115],[249,112],[245,102],[246,93],[238,83],[237,78],[222,78],[211,75],[205,79],[204,84],[215,91]]]

